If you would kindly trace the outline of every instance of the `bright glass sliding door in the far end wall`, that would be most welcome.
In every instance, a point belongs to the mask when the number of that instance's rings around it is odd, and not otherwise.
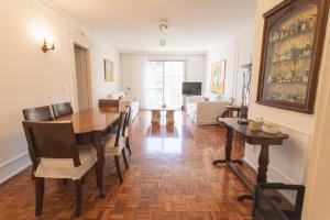
[[[185,62],[155,61],[147,63],[146,107],[180,108]]]

